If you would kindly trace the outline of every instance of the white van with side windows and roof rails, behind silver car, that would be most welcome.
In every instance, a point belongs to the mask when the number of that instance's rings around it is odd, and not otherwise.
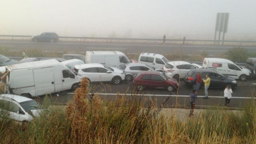
[[[140,54],[138,62],[148,64],[156,69],[162,69],[169,60],[161,54],[143,52]]]

